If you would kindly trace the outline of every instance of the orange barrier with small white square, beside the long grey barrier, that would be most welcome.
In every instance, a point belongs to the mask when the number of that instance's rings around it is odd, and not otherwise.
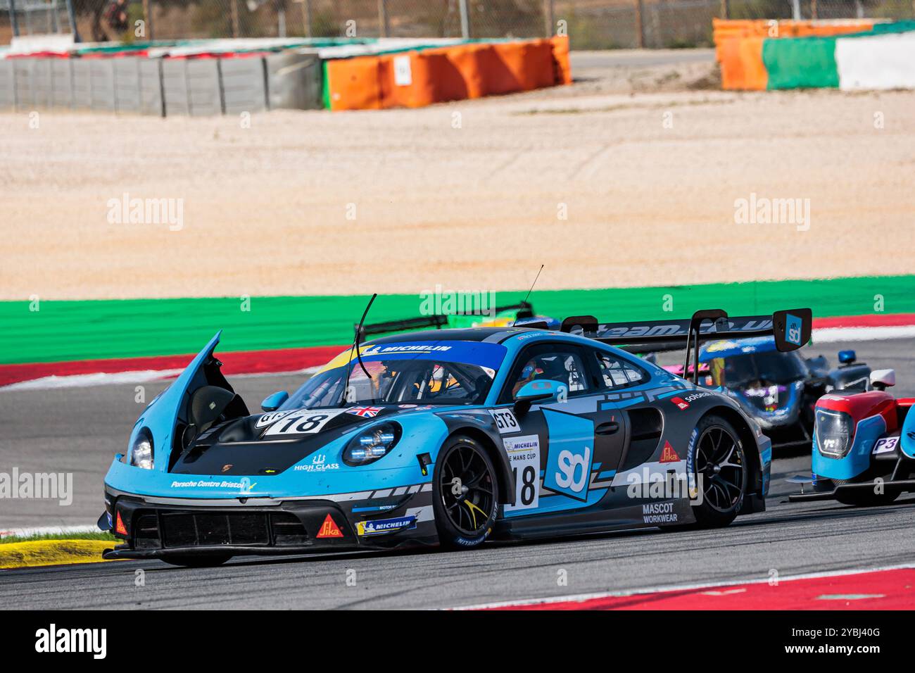
[[[329,60],[327,76],[331,110],[423,107],[571,81],[568,38]]]

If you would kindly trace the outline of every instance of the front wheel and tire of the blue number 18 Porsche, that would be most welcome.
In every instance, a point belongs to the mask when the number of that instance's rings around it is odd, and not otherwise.
[[[479,547],[490,535],[499,506],[499,482],[479,441],[447,440],[433,472],[432,507],[443,548]]]

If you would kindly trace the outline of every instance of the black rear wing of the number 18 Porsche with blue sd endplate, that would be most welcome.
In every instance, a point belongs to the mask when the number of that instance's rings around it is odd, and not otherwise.
[[[698,381],[699,345],[717,339],[747,339],[772,336],[781,352],[794,351],[810,341],[811,309],[777,310],[770,316],[728,317],[722,309],[697,310],[689,320],[643,320],[599,323],[594,316],[563,320],[561,331],[580,334],[632,353],[686,349],[684,373],[690,373],[690,350],[694,350],[692,374]]]

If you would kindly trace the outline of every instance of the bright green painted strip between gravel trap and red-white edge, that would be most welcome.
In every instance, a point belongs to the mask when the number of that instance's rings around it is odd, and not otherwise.
[[[497,304],[525,291],[496,294]],[[555,318],[600,320],[683,318],[696,309],[732,315],[809,306],[814,317],[864,315],[876,296],[887,313],[915,313],[915,276],[787,280],[658,288],[534,290],[533,308]],[[254,297],[0,302],[0,364],[196,353],[217,330],[222,351],[350,342],[368,297]],[[417,295],[376,299],[370,321],[420,314]],[[672,308],[665,312],[664,308]],[[248,309],[248,310],[245,310]]]

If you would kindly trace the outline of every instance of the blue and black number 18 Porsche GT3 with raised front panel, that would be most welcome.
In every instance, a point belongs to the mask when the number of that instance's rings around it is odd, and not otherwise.
[[[442,545],[761,511],[771,447],[733,399],[644,362],[644,344],[810,337],[810,310],[417,331],[360,343],[252,414],[219,334],[137,419],[104,480],[107,559]],[[358,333],[358,332],[357,332]],[[696,367],[697,369],[697,367]]]

